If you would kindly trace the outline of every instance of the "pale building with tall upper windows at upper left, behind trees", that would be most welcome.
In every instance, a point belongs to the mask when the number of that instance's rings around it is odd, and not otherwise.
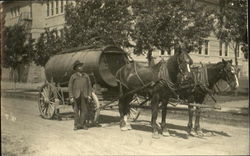
[[[27,1],[5,1],[3,8],[5,13],[4,26],[15,24],[24,25],[27,34],[37,40],[45,28],[57,29],[58,34],[63,33],[65,25],[64,11],[68,0],[27,0]],[[45,80],[44,69],[34,63],[22,67],[25,81],[40,82]],[[11,69],[3,69],[2,79],[11,79]]]

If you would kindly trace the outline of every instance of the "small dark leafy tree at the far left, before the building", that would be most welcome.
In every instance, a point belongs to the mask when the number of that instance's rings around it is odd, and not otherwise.
[[[14,72],[21,64],[32,61],[34,40],[27,38],[25,27],[14,25],[4,30],[3,67],[12,68]],[[20,81],[20,72],[17,80]],[[16,81],[16,78],[15,78]]]

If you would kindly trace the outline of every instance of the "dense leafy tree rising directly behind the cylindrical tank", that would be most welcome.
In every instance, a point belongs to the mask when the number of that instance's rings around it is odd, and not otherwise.
[[[86,0],[66,6],[67,47],[113,44],[130,45],[132,16],[129,0]]]

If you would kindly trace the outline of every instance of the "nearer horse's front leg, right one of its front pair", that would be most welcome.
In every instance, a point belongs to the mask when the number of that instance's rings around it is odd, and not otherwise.
[[[161,129],[162,129],[162,135],[165,137],[170,136],[167,124],[166,124],[166,116],[167,116],[167,102],[168,100],[162,100],[162,119],[161,119]]]

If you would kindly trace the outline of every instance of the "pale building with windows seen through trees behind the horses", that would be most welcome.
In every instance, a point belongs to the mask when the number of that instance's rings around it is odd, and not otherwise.
[[[189,3],[188,3],[189,2]],[[210,7],[217,7],[219,0],[187,0],[187,5],[192,5],[192,3],[205,3]],[[161,58],[167,59],[174,54],[174,50],[168,52],[161,52],[160,50],[155,50],[153,52],[153,57],[161,60]],[[194,60],[194,64],[201,63],[217,63],[223,59],[233,60],[235,62],[235,54],[233,43],[223,43],[218,40],[216,36],[211,33],[208,38],[205,39],[205,42],[199,48],[198,51],[193,51],[190,53],[191,58]],[[145,56],[135,56],[132,54],[132,57],[137,61],[146,62]],[[244,58],[243,52],[241,52],[241,46],[237,49],[237,60],[238,67],[240,68],[240,76],[248,77],[248,60]]]

